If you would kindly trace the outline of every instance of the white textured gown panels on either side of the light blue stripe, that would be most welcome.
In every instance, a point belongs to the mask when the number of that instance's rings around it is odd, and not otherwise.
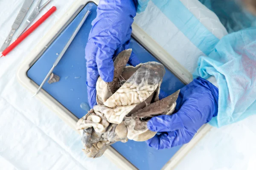
[[[215,37],[221,39],[227,35],[226,28],[218,17],[198,0],[180,0],[180,2]],[[137,14],[134,21],[190,73],[196,68],[198,57],[206,56],[152,1],[148,2],[144,12]]]

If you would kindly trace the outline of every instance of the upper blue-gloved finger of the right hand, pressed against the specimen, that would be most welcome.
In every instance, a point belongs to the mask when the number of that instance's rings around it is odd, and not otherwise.
[[[152,117],[147,123],[148,129],[154,132],[169,132],[184,129],[182,120],[177,114]]]

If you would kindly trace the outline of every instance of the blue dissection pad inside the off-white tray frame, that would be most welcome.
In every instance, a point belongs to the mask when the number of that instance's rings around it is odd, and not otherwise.
[[[92,27],[91,22],[96,17],[96,8],[96,4],[88,3],[27,72],[28,77],[40,85],[84,14],[87,10],[90,10],[90,16],[53,71],[54,74],[61,77],[60,81],[50,85],[46,83],[43,86],[45,91],[78,118],[84,116],[90,109],[87,100],[84,48]],[[157,61],[134,39],[131,39],[130,48],[140,58],[141,62]],[[163,91],[167,94],[172,94],[183,86],[179,79],[166,70],[161,86]],[[160,170],[180,148],[154,150],[148,147],[145,142],[134,141],[128,141],[127,143],[116,142],[112,146],[140,170]]]

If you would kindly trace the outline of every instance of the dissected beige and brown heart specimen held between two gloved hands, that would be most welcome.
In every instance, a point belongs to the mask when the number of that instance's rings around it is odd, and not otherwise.
[[[148,130],[147,122],[154,116],[173,113],[180,91],[159,100],[160,85],[165,74],[158,62],[126,66],[131,49],[122,51],[114,61],[114,78],[96,83],[97,105],[77,122],[84,153],[102,156],[113,143],[128,139],[142,142],[156,132]]]

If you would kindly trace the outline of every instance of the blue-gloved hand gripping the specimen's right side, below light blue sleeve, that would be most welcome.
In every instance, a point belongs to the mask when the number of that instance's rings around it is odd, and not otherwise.
[[[155,149],[188,143],[197,130],[218,113],[218,88],[205,79],[194,79],[180,90],[172,115],[160,115],[148,121],[148,129],[160,134],[147,144]]]

